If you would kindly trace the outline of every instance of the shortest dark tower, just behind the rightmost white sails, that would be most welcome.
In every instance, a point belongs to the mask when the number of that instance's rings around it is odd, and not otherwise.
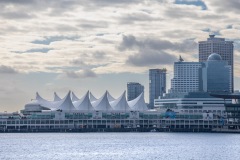
[[[141,93],[144,94],[144,86],[137,82],[127,83],[127,100],[131,101],[137,98]]]

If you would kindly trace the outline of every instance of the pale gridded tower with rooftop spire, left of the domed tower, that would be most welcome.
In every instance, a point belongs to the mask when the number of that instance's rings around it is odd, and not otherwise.
[[[201,62],[183,62],[180,56],[174,62],[174,77],[171,79],[170,93],[187,93],[199,91],[199,69]]]

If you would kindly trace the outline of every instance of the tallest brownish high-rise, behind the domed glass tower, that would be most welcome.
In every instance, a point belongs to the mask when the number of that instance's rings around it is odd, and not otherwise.
[[[215,35],[209,35],[207,41],[199,42],[199,62],[207,61],[208,56],[212,53],[219,54],[222,60],[227,61],[228,65],[231,66],[232,73],[234,73],[233,41],[226,41],[225,38],[215,38]],[[234,74],[231,76],[231,92],[234,91],[233,78]]]

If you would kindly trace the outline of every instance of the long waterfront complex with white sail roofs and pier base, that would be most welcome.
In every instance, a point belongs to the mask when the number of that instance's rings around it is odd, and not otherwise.
[[[90,92],[82,98],[75,97],[74,101],[70,95],[69,92],[61,100],[48,101],[37,93],[36,99],[27,103],[21,113],[0,113],[0,132],[150,131],[153,128],[210,132],[228,125],[222,104],[229,101],[210,99],[206,93],[185,93],[184,98],[170,103],[171,97],[166,97],[165,102],[155,102],[168,105],[159,110],[148,110],[143,93],[132,101],[126,100],[125,92],[115,100],[109,98],[108,92],[95,100],[90,99]]]

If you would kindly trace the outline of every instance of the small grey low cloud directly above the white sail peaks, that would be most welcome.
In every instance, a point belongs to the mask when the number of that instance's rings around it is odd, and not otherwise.
[[[68,78],[94,78],[97,74],[90,69],[80,70],[80,71],[65,71]]]

